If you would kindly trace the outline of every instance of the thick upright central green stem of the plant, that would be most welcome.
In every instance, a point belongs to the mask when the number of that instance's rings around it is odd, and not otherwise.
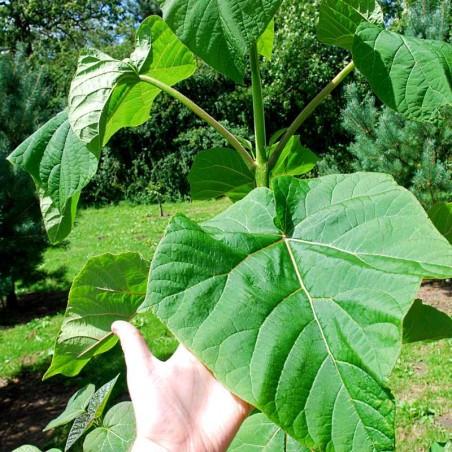
[[[267,168],[267,138],[265,132],[264,96],[262,95],[259,54],[256,44],[251,47],[250,61],[253,90],[254,132],[256,137],[256,183],[258,187],[268,187],[269,180]]]

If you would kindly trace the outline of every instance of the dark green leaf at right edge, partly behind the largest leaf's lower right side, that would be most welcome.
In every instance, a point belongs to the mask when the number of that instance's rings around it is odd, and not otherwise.
[[[403,321],[403,342],[452,337],[452,318],[445,312],[416,300]]]

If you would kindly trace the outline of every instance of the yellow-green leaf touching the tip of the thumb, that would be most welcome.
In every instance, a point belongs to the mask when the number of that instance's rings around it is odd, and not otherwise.
[[[144,300],[149,264],[139,254],[104,254],[74,279],[52,363],[44,375],[77,375],[117,343],[115,320],[131,320]]]

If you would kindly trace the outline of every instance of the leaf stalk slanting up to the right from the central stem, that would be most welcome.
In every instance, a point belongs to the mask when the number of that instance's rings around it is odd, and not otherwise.
[[[297,116],[295,121],[290,125],[287,129],[286,133],[282,137],[281,141],[278,144],[278,147],[273,152],[270,161],[269,168],[273,168],[276,162],[278,161],[281,152],[286,147],[289,140],[295,135],[297,130],[303,125],[303,123],[314,113],[316,108],[345,80],[345,78],[355,69],[355,64],[353,62],[347,64],[347,66],[342,69],[339,74],[331,80],[325,88],[320,91],[314,99],[309,102],[308,105],[304,108],[304,110]]]

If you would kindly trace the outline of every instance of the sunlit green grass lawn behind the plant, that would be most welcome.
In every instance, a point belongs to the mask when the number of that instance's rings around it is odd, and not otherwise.
[[[205,220],[227,204],[227,201],[169,204],[165,212],[170,215],[182,212],[193,219]],[[84,210],[67,243],[47,251],[43,268],[55,271],[65,267],[69,281],[87,259],[105,252],[137,251],[150,259],[167,222],[168,218],[159,217],[156,206],[124,204]],[[68,282],[60,284],[67,286]],[[0,381],[16,377],[24,369],[45,370],[62,318],[59,313],[0,329]],[[156,319],[138,317],[136,323],[158,357],[172,353],[176,343]],[[122,371],[123,365],[116,347],[90,363],[75,382],[79,386],[88,380],[104,383]],[[125,388],[124,379],[120,387]],[[452,341],[405,346],[390,387],[398,400],[398,451],[428,451],[434,441],[452,439]]]

